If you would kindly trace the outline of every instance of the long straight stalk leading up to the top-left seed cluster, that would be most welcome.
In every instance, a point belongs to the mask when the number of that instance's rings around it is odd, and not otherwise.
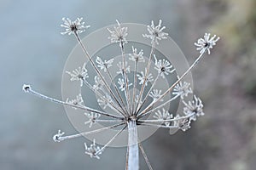
[[[116,101],[116,103],[119,105],[119,107],[125,112],[124,108],[120,105],[119,100],[116,99],[115,95],[113,94],[112,90],[110,89],[110,87],[108,86],[108,83],[106,82],[106,80],[104,79],[104,77],[102,76],[101,71],[98,70],[98,68],[96,67],[95,63],[93,62],[93,60],[90,57],[90,54],[88,53],[87,49],[84,47],[83,42],[81,41],[79,35],[77,32],[74,32],[75,37],[77,38],[80,46],[82,47],[84,54],[86,55],[86,57],[90,60],[90,64],[93,66],[94,70],[96,71],[97,75],[99,77],[101,77],[102,82],[104,82],[105,87],[108,88],[108,92],[112,95],[113,99]]]

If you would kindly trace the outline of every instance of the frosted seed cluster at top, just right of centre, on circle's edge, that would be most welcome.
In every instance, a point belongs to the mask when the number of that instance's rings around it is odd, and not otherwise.
[[[148,32],[149,34],[143,34],[143,37],[148,37],[151,39],[151,43],[153,44],[156,42],[156,44],[159,44],[159,40],[166,39],[168,36],[168,33],[163,32],[164,29],[166,29],[166,26],[161,27],[162,20],[159,20],[158,26],[154,26],[154,21],[151,21],[151,26],[148,26]]]

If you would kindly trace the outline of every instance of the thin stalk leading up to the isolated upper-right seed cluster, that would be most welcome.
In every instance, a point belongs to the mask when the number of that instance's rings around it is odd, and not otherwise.
[[[189,71],[191,71],[191,70],[195,67],[195,65],[197,65],[197,63],[200,61],[200,59],[202,58],[202,56],[203,56],[204,53],[205,53],[205,51],[204,51],[203,53],[201,53],[201,54],[197,57],[197,59],[195,59],[195,62],[189,67],[189,69],[188,69],[187,71],[185,71],[185,72],[183,73],[183,75],[182,75],[181,77],[179,77],[179,78],[177,79],[177,81],[174,82],[174,83],[172,84],[172,86],[171,86],[170,88],[168,88],[168,89],[166,90],[166,92],[160,96],[159,99],[155,100],[155,101],[152,102],[150,105],[148,105],[148,107],[147,107],[146,109],[144,109],[144,110],[141,112],[141,115],[143,115],[145,112],[147,112],[155,103],[159,102],[160,99],[163,99],[163,98],[166,96],[166,94],[169,94],[169,93],[172,91],[172,88],[174,88],[174,87],[177,85],[178,82],[182,81],[182,80],[183,80],[183,77],[185,77],[185,76],[189,73]]]

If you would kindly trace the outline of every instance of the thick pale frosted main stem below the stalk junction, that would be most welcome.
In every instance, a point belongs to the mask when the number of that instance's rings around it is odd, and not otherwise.
[[[139,156],[138,156],[138,144],[137,144],[137,125],[135,121],[128,122],[128,170],[139,169]]]

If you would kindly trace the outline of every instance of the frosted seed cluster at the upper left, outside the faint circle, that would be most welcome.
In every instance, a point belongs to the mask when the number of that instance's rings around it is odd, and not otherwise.
[[[74,33],[82,33],[85,29],[89,28],[90,26],[84,26],[84,22],[82,21],[83,18],[77,18],[76,20],[70,20],[69,18],[62,18],[63,24],[61,27],[65,28],[65,31],[62,31],[61,34],[71,35]]]

